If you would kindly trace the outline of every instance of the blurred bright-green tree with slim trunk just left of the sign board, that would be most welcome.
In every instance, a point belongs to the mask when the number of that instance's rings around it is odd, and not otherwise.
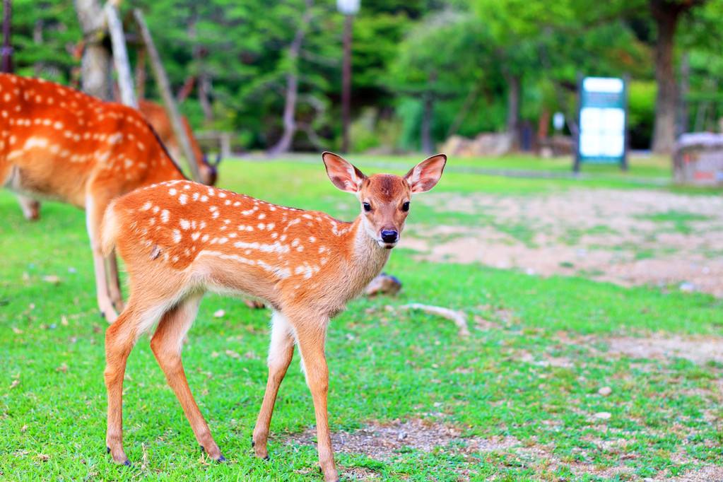
[[[519,141],[521,113],[538,116],[539,109],[562,108],[576,129],[570,97],[578,74],[619,75],[637,69],[645,53],[620,18],[624,8],[620,0],[474,1],[487,34],[484,43],[507,87],[505,129],[513,144]],[[538,93],[526,96],[524,88]],[[525,98],[536,98],[539,106],[521,108]]]

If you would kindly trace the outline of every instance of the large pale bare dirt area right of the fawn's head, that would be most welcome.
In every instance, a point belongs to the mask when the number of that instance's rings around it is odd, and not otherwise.
[[[423,259],[723,296],[723,197],[573,189],[525,196],[430,194],[419,202],[438,212],[479,215],[471,225],[410,233],[404,245],[422,251]]]

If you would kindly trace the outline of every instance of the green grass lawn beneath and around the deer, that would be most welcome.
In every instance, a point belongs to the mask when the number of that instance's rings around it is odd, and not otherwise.
[[[398,165],[397,172],[414,163],[384,161]],[[375,162],[362,158],[359,165]],[[523,163],[528,168],[533,161]],[[608,167],[581,180],[502,178],[458,171],[452,160],[435,190],[670,190],[631,179],[666,172],[653,160],[640,169],[633,164],[628,175]],[[220,185],[344,219],[358,209],[353,197],[330,184],[320,162],[229,162]],[[296,362],[276,404],[271,460],[252,457],[270,312],[219,296],[203,301],[184,364],[228,462],[202,455],[143,337],[124,384],[124,442],[134,465],[114,465],[105,451],[106,324],[95,308],[83,213],[48,202],[38,223],[26,223],[12,194],[2,191],[0,215],[0,478],[320,480],[313,435],[305,435],[314,410]],[[407,225],[449,216],[413,203]],[[460,222],[485,220],[468,215]],[[671,222],[690,229],[682,215]],[[386,270],[401,278],[403,291],[351,302],[328,335],[330,423],[335,434],[346,434],[335,438],[346,480],[664,479],[723,466],[723,363],[630,356],[613,343],[651,334],[693,344],[718,340],[721,299],[422,262],[404,241]],[[464,311],[471,335],[458,336],[445,319],[393,310],[410,302]],[[219,309],[225,314],[214,317]],[[414,427],[427,436],[427,446],[416,442]],[[352,444],[361,431],[391,432],[393,439],[372,436]],[[345,440],[351,449],[343,449]]]

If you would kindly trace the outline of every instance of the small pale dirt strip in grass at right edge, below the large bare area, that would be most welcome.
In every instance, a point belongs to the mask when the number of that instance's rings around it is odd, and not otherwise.
[[[615,337],[607,340],[609,353],[631,358],[687,358],[696,363],[723,363],[721,337]]]

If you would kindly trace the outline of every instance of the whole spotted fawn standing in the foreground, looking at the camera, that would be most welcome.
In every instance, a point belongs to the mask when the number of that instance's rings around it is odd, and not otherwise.
[[[254,451],[268,457],[271,413],[296,343],[314,400],[319,462],[326,481],[338,479],[327,419],[328,322],[380,273],[399,241],[411,195],[437,184],[447,158],[432,156],[403,177],[367,177],[330,152],[322,158],[332,183],[359,198],[361,213],[353,223],[190,181],[139,189],[108,206],[103,251],[118,250],[131,290],[126,308],[106,331],[106,444],[116,462],[129,464],[122,442],[126,361],[138,337],[158,320],[150,341],[155,358],[202,449],[225,460],[191,395],[181,348],[205,291],[245,293],[273,307]]]

